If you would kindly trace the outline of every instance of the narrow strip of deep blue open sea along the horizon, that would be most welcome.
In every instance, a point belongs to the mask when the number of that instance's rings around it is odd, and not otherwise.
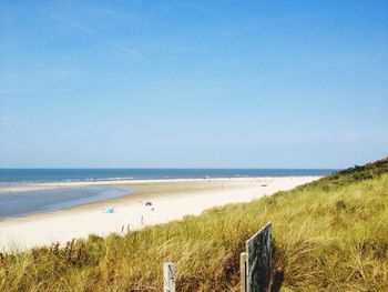
[[[335,169],[0,169],[0,184],[136,179],[303,177],[326,175],[335,171]]]

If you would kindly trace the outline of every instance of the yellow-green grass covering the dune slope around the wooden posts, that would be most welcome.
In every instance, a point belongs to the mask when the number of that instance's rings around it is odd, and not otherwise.
[[[0,258],[1,291],[238,291],[245,240],[273,222],[282,291],[388,291],[388,159],[252,203]]]

